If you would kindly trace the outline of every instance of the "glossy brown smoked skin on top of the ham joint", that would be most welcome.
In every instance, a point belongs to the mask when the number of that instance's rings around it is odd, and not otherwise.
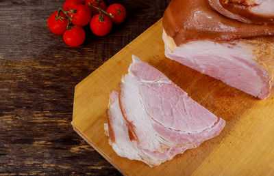
[[[271,2],[254,8],[266,8],[269,10],[269,14],[274,13],[274,0],[266,1]],[[252,8],[253,14],[255,12],[257,14],[258,12],[266,12],[254,8]],[[247,17],[249,16],[251,15],[247,14]],[[254,14],[253,16],[258,15]],[[258,19],[259,24],[253,24],[253,20],[248,23],[250,19],[247,17],[223,8],[220,5],[220,0],[173,0],[166,8],[162,22],[167,35],[173,38],[177,46],[200,40],[222,42],[239,38],[274,35],[274,25],[265,24],[273,23],[273,18],[267,17],[266,22]],[[245,19],[245,23],[239,19]],[[264,23],[264,25],[261,25],[261,23]]]

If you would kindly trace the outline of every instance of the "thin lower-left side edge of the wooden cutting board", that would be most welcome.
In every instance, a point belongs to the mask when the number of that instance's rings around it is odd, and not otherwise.
[[[84,141],[86,141],[88,143],[88,145],[90,145],[93,149],[95,149],[98,153],[100,153],[101,156],[103,156],[103,158],[105,158],[105,160],[107,160],[110,164],[112,164],[112,166],[114,166],[114,168],[116,168],[120,173],[122,173],[123,175],[127,175],[121,168],[119,168],[119,166],[117,166],[109,157],[108,155],[106,155],[103,151],[101,151],[98,147],[96,147],[96,145],[94,143],[92,143],[92,141],[88,140],[88,138],[82,133],[80,132],[80,130],[77,129],[77,127],[73,124],[73,121],[71,121],[71,125],[73,126],[73,130],[79,135],[81,136]]]

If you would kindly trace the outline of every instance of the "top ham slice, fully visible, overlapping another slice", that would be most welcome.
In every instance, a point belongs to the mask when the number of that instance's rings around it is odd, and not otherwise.
[[[225,126],[223,119],[135,56],[122,78],[119,104],[133,134],[133,145],[152,152],[201,143]]]

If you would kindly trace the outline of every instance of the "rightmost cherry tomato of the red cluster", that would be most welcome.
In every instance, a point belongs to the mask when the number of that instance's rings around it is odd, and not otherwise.
[[[107,8],[107,12],[114,16],[112,18],[112,22],[114,24],[120,24],[123,23],[125,20],[125,16],[127,15],[127,12],[125,11],[125,7],[121,5],[120,3],[114,3]]]

